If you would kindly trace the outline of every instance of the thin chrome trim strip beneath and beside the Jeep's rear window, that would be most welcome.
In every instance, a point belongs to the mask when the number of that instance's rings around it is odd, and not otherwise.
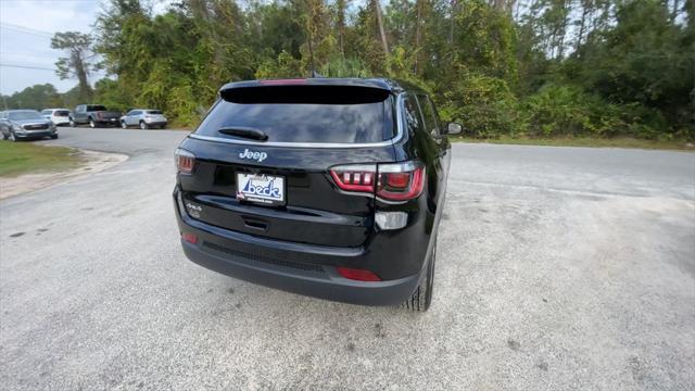
[[[253,146],[253,147],[290,147],[290,148],[375,148],[375,147],[388,147],[393,146],[394,143],[401,141],[403,138],[403,131],[405,128],[405,124],[403,123],[403,116],[401,115],[401,108],[403,105],[403,97],[401,94],[396,96],[395,102],[395,124],[396,124],[396,135],[395,137],[379,141],[379,142],[363,142],[363,143],[344,143],[344,142],[287,142],[287,141],[248,141],[248,140],[235,140],[223,137],[214,137],[214,136],[201,136],[190,134],[188,137],[204,140],[204,141],[213,141],[213,142],[225,142],[230,144],[238,146]]]

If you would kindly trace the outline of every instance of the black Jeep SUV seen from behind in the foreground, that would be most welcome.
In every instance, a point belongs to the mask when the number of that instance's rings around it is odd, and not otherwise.
[[[186,255],[264,286],[426,311],[451,144],[390,79],[231,83],[176,151]]]

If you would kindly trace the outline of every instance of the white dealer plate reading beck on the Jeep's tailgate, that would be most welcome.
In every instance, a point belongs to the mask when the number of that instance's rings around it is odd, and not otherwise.
[[[238,173],[237,200],[263,205],[285,205],[285,177]]]

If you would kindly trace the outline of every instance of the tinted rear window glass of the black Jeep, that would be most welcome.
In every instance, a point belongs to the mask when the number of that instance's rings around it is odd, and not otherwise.
[[[393,137],[393,103],[388,91],[341,87],[253,87],[223,91],[197,135],[235,139],[220,128],[252,128],[268,142],[366,143]],[[363,89],[366,90],[366,89]],[[357,93],[355,93],[357,92]]]

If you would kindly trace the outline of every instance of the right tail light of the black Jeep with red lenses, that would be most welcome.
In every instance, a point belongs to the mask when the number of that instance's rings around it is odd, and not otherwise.
[[[341,190],[376,194],[386,201],[407,201],[425,188],[425,167],[418,162],[341,165],[330,169]]]

